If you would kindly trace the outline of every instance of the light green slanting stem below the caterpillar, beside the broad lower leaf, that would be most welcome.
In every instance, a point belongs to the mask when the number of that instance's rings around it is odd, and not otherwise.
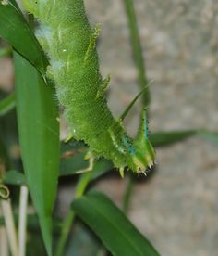
[[[80,198],[84,194],[86,187],[88,186],[88,184],[90,182],[91,174],[92,174],[92,172],[88,172],[88,173],[84,173],[81,175],[81,177],[79,179],[78,186],[76,188],[75,199]],[[65,249],[65,245],[67,242],[67,237],[68,237],[68,234],[70,231],[70,227],[72,226],[72,224],[74,222],[74,218],[75,218],[75,212],[73,211],[72,208],[70,208],[69,211],[67,212],[67,217],[62,226],[61,237],[57,244],[55,256],[63,255],[63,251]]]

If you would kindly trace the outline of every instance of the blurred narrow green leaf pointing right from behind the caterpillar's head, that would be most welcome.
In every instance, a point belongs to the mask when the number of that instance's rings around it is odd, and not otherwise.
[[[189,136],[198,133],[198,130],[157,132],[150,135],[150,140],[154,147],[163,147],[187,139]]]

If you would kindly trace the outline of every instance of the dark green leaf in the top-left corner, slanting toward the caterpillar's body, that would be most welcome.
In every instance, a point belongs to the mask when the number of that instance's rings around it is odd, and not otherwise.
[[[14,2],[14,1],[12,1]],[[15,4],[0,3],[0,36],[44,74],[47,59],[34,33]]]

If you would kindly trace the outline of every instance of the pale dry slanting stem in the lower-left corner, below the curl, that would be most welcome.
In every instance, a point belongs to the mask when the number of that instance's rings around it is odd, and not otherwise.
[[[6,234],[12,256],[18,256],[18,238],[15,228],[10,199],[1,200],[2,211],[6,223]]]

